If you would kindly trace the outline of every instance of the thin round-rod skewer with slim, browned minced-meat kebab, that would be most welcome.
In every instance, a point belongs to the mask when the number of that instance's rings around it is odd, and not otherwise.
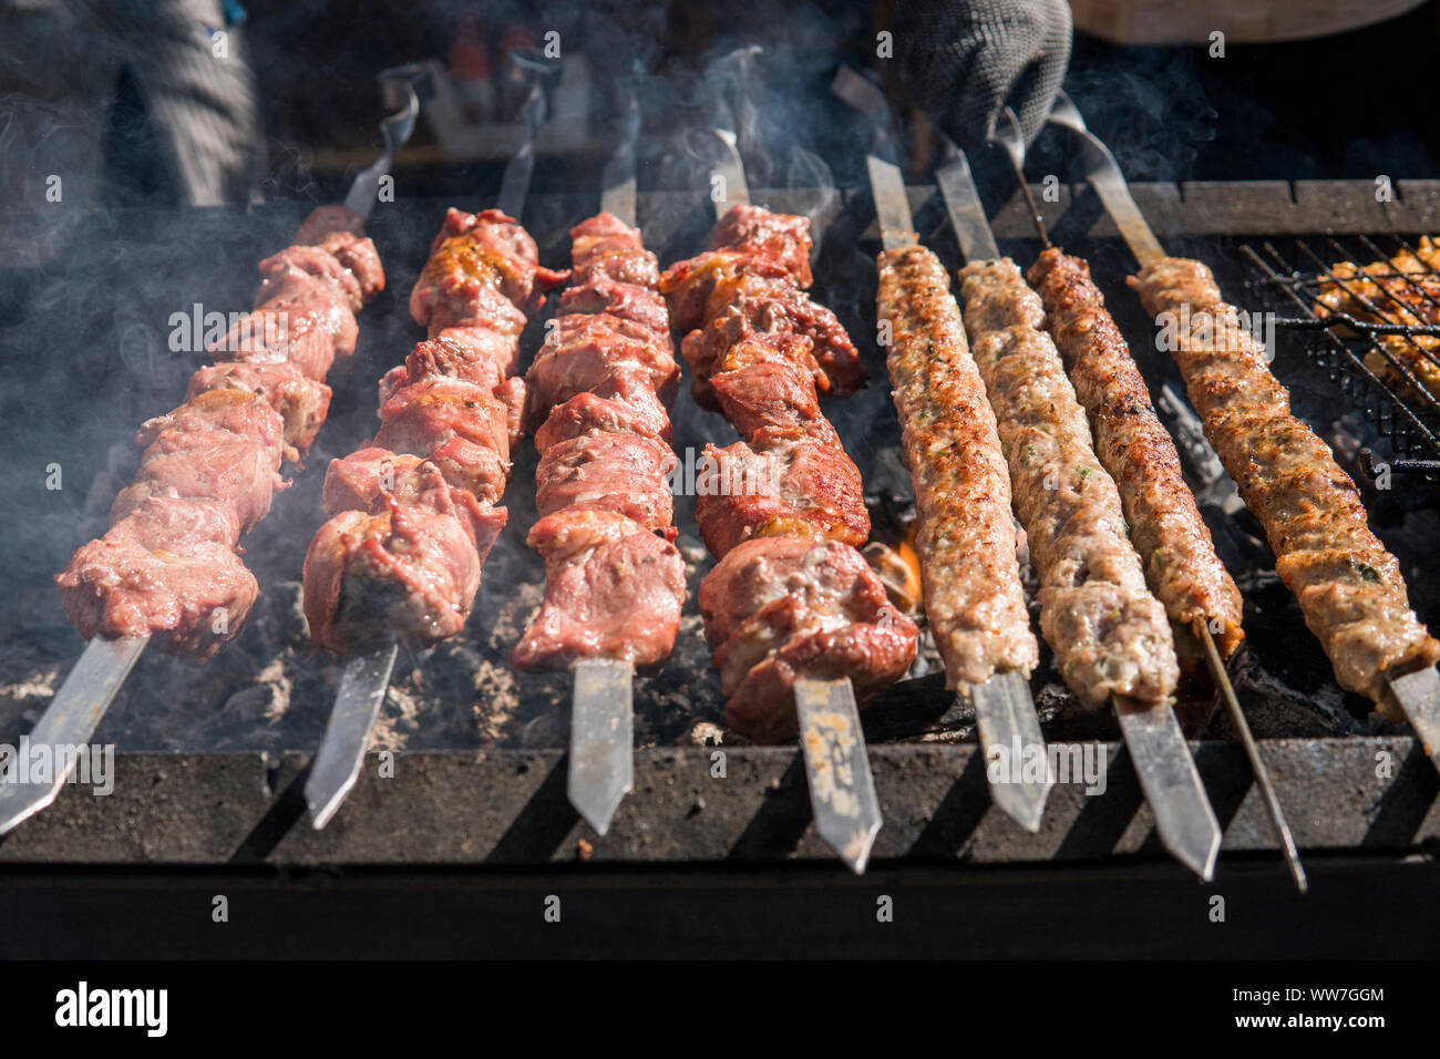
[[[1215,555],[1210,530],[1181,474],[1175,442],[1155,414],[1139,366],[1090,280],[1089,265],[1050,245],[1044,218],[1025,183],[1025,141],[1008,108],[995,133],[1043,246],[1028,280],[1044,301],[1045,326],[1090,416],[1100,461],[1120,486],[1130,539],[1145,562],[1146,581],[1165,604],[1171,622],[1200,641],[1215,690],[1246,748],[1290,876],[1303,893],[1308,882],[1295,834],[1225,671],[1225,660],[1244,638],[1240,589]]]

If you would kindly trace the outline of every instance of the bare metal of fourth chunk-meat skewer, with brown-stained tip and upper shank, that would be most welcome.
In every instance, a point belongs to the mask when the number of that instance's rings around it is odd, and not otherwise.
[[[719,177],[711,199],[716,220],[720,220],[732,206],[749,203],[750,190],[734,131],[716,128],[714,134],[726,147],[711,170],[711,179]],[[880,831],[881,816],[855,687],[850,677],[801,677],[795,682],[795,712],[815,833],[855,875],[861,875]]]

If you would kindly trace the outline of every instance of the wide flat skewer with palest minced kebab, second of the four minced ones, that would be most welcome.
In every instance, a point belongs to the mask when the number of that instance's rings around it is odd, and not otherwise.
[[[1094,454],[1060,353],[1040,329],[1040,297],[999,258],[965,156],[936,179],[969,262],[959,274],[965,330],[1040,571],[1041,633],[1080,702],[1115,706],[1161,841],[1208,880],[1220,824],[1171,709],[1179,674],[1174,638],[1145,585],[1119,488]]]

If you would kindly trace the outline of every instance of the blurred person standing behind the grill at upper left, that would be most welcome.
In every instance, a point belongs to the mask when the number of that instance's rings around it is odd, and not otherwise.
[[[236,0],[0,0],[9,265],[102,205],[251,200],[265,141],[243,22]]]

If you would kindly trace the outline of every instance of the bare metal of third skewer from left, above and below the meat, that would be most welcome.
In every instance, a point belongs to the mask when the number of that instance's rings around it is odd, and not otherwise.
[[[639,107],[629,98],[619,147],[605,166],[600,209],[635,223],[635,137]],[[596,834],[605,834],[635,782],[635,667],[613,658],[575,664],[570,700],[570,765],[566,794]]]

